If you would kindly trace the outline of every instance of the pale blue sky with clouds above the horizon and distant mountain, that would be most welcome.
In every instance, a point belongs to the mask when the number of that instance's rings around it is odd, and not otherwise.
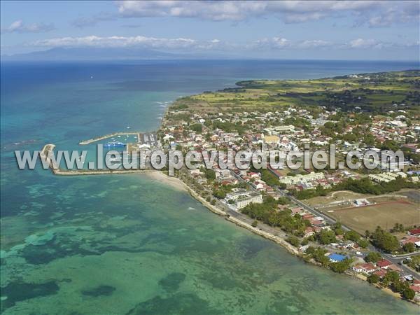
[[[1,1],[1,55],[51,48],[419,60],[420,1]]]

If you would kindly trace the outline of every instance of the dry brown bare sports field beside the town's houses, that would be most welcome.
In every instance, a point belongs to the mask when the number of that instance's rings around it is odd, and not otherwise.
[[[367,207],[335,209],[328,215],[360,234],[364,234],[365,230],[373,231],[378,225],[384,229],[392,228],[395,223],[407,227],[420,225],[419,204],[402,199]]]

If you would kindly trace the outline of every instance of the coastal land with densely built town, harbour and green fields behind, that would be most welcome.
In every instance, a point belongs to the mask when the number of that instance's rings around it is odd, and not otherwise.
[[[314,81],[244,81],[182,97],[169,106],[158,132],[132,132],[134,141],[124,146],[131,153],[234,154],[265,146],[277,153],[276,165],[267,169],[224,168],[217,162],[208,168],[201,162],[175,175],[193,197],[227,220],[308,262],[419,303],[420,73]],[[307,91],[297,92],[302,85]],[[397,92],[393,85],[400,87]],[[80,144],[109,138],[115,144],[115,137],[128,136],[122,132]],[[334,145],[337,164],[349,151],[360,156],[385,151],[391,160],[373,169],[329,163],[321,169],[313,163],[289,168],[286,153],[306,145],[312,152]],[[398,161],[402,168],[396,167],[396,151],[404,153]]]

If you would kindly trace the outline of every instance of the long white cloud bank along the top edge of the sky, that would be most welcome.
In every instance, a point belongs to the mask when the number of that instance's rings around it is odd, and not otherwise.
[[[384,25],[379,18],[386,23],[412,22],[419,18],[419,9],[414,8],[419,5],[416,1],[117,1],[116,4],[120,15],[127,18],[239,21],[274,15],[286,23],[298,23],[351,13],[371,26]]]

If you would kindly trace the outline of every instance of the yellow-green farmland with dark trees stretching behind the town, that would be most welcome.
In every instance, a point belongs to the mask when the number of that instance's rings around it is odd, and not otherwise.
[[[383,112],[393,103],[405,103],[405,109],[419,113],[418,99],[409,92],[419,90],[419,71],[369,73],[372,80],[336,77],[316,80],[248,80],[238,87],[204,92],[179,99],[190,111],[277,110],[283,106],[344,106]]]

